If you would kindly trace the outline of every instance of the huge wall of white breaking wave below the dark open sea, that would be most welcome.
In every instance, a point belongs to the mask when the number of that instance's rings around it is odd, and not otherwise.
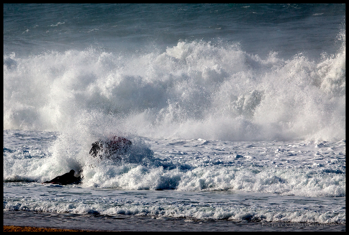
[[[12,54],[4,56],[3,125],[62,131],[85,123],[78,126],[149,138],[338,141],[345,139],[345,63],[345,46],[314,62],[302,54],[263,59],[235,44],[206,42],[132,56],[95,49]]]

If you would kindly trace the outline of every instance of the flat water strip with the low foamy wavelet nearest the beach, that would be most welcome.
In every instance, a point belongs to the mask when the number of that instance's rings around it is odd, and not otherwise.
[[[16,186],[14,186],[16,187]],[[32,187],[37,191],[39,186]],[[248,221],[288,221],[316,223],[345,223],[346,213],[342,208],[328,211],[328,200],[323,199],[318,211],[306,208],[317,207],[317,201],[307,198],[280,196],[276,202],[267,194],[239,193],[198,193],[186,194],[181,192],[132,193],[130,191],[94,191],[89,188],[57,188],[47,186],[51,193],[41,194],[40,199],[34,198],[4,198],[4,210],[8,211],[37,211],[48,213],[97,214],[97,215],[138,215],[187,218],[187,220],[248,220]],[[17,188],[17,187],[16,187]],[[11,189],[9,189],[11,191]],[[18,189],[17,194],[25,193]],[[38,191],[39,192],[39,191]],[[11,194],[11,193],[9,193]],[[77,197],[68,199],[67,195]],[[168,198],[165,198],[166,196]],[[188,197],[190,199],[188,199]],[[215,198],[215,199],[213,199]],[[206,199],[206,200],[203,200]],[[220,201],[217,204],[217,200]],[[235,203],[231,204],[231,200]],[[342,203],[345,199],[338,199]],[[276,204],[276,205],[275,205]],[[292,204],[292,209],[289,208]]]

